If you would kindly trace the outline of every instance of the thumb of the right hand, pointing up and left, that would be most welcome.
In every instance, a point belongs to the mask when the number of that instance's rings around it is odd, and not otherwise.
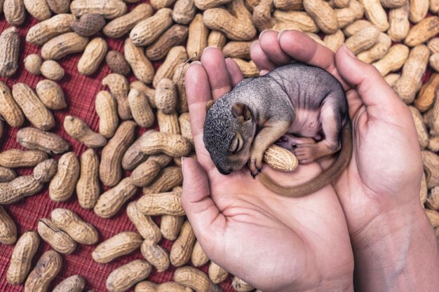
[[[373,107],[373,111],[367,110],[368,113],[392,113],[404,106],[379,71],[358,60],[346,46],[337,50],[335,60],[340,76],[356,88],[365,106]]]

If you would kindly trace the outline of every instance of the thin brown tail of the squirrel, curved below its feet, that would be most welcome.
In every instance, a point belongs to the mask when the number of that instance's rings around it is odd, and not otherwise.
[[[274,182],[269,176],[263,173],[259,173],[259,180],[269,190],[285,197],[303,197],[305,195],[315,193],[317,190],[320,190],[320,188],[323,188],[327,184],[331,183],[337,178],[337,176],[342,174],[342,171],[346,168],[351,160],[353,138],[350,120],[348,123],[346,123],[346,125],[344,125],[342,131],[342,148],[340,150],[339,157],[334,164],[325,169],[312,181],[308,181],[297,186],[285,187],[279,186],[278,183]]]

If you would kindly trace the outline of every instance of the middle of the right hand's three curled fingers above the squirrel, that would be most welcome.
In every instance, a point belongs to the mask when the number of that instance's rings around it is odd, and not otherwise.
[[[281,43],[278,41],[278,32],[264,30],[259,36],[259,46],[264,51],[271,62],[278,66],[283,66],[291,62],[291,57],[282,50]]]

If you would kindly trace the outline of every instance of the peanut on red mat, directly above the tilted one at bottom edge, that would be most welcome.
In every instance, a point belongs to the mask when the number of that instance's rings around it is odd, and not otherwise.
[[[91,256],[97,263],[109,263],[119,256],[132,253],[142,244],[142,237],[136,232],[121,232],[99,244]]]

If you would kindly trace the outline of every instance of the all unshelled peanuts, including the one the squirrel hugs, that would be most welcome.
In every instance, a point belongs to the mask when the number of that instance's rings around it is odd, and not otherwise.
[[[62,256],[78,244],[97,244],[97,230],[68,209],[54,209],[40,218],[36,231],[18,238],[16,225],[3,204],[13,204],[48,186],[50,200],[65,202],[76,193],[79,205],[97,216],[111,218],[126,212],[137,232],[121,232],[100,242],[93,260],[106,264],[140,249],[144,259],[114,270],[107,279],[110,292],[135,286],[146,291],[220,291],[229,273],[209,259],[196,241],[180,203],[182,156],[196,157],[184,88],[189,61],[199,60],[207,46],[222,49],[245,77],[259,75],[250,60],[250,46],[264,29],[297,29],[336,51],[343,43],[363,62],[373,64],[398,96],[409,105],[419,136],[425,175],[421,203],[439,239],[439,0],[0,0],[0,13],[11,25],[0,34],[0,76],[11,78],[25,69],[43,76],[36,88],[0,81],[0,136],[4,123],[22,127],[18,143],[28,150],[0,153],[0,244],[15,244],[6,274],[10,284],[25,291],[46,292],[60,272]],[[133,6],[128,12],[128,5]],[[430,16],[428,16],[430,11]],[[25,41],[41,46],[39,55],[20,55],[17,26],[26,13],[39,22]],[[412,24],[412,25],[411,25]],[[107,38],[124,38],[123,53],[109,50]],[[320,36],[323,36],[323,39]],[[97,93],[97,132],[80,118],[66,116],[63,128],[88,147],[81,158],[58,134],[52,111],[66,109],[57,81],[65,77],[58,60],[82,53],[77,71],[95,74],[103,62],[112,70],[102,79],[108,88]],[[163,60],[156,71],[151,62]],[[424,85],[430,67],[436,71]],[[401,70],[402,69],[402,70]],[[136,81],[128,82],[133,74]],[[151,87],[147,85],[152,85]],[[154,88],[154,89],[153,89]],[[136,137],[136,128],[150,128]],[[102,151],[97,151],[102,148]],[[100,153],[98,155],[97,153]],[[50,156],[61,155],[57,161]],[[276,169],[291,171],[297,159],[271,146],[264,160]],[[18,176],[13,169],[34,167]],[[123,177],[124,170],[132,171]],[[102,186],[109,189],[102,193]],[[142,197],[132,201],[138,190]],[[132,201],[132,202],[130,202]],[[153,216],[161,216],[158,226]],[[159,244],[173,241],[170,253]],[[40,241],[52,249],[32,269]],[[194,267],[188,266],[191,260]],[[209,263],[208,275],[195,267]],[[173,282],[145,281],[157,272],[177,267]],[[81,292],[86,281],[74,275],[53,291]],[[238,292],[252,291],[234,277]]]

